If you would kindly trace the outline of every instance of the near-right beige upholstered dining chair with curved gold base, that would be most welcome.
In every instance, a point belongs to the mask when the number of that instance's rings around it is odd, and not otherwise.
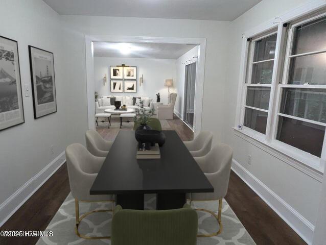
[[[228,181],[230,178],[230,170],[232,163],[233,151],[227,144],[217,144],[205,156],[195,157],[196,162],[204,172],[209,182],[214,187],[214,192],[210,193],[191,193],[188,194],[190,203],[192,201],[219,201],[218,215],[211,210],[196,209],[211,213],[219,223],[219,230],[212,234],[199,234],[198,237],[216,236],[222,232],[222,200],[226,195]]]

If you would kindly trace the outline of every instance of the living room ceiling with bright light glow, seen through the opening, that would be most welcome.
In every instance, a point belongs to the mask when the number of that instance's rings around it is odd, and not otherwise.
[[[177,59],[193,47],[195,47],[195,45],[172,43],[94,42],[94,56]]]

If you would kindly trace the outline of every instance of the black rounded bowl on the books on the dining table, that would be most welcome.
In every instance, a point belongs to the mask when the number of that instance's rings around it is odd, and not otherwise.
[[[145,143],[145,150],[151,150],[151,145],[154,146],[155,143],[158,143],[159,146],[165,143],[164,133],[158,130],[136,130],[135,137],[139,148],[143,148],[143,143]]]

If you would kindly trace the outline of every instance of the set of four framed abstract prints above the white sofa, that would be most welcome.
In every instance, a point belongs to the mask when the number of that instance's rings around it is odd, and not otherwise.
[[[135,93],[137,91],[136,78],[136,66],[110,66],[110,91]]]

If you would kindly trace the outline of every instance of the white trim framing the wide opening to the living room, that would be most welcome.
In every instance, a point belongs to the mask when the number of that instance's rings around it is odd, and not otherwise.
[[[206,38],[183,37],[142,37],[142,36],[110,36],[110,35],[85,35],[86,45],[86,83],[87,83],[87,110],[88,129],[95,129],[95,84],[94,84],[94,52],[92,42],[146,42],[146,43],[175,43],[200,45],[197,59],[196,95],[194,132],[199,133],[202,125],[202,107],[204,96]]]

